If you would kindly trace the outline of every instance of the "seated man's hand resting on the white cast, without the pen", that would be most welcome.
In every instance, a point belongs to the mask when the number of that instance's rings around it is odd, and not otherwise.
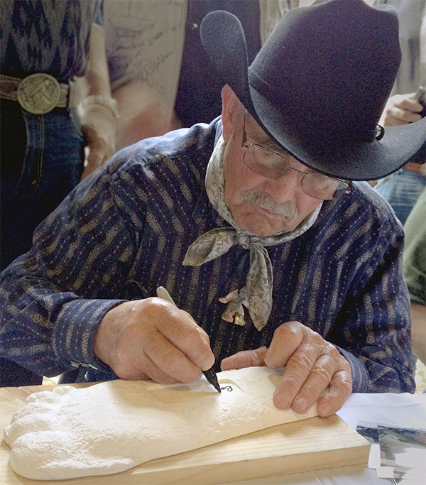
[[[222,371],[266,365],[285,366],[275,389],[273,403],[278,409],[306,411],[317,403],[320,416],[339,410],[352,392],[351,367],[334,345],[300,322],[278,327],[271,345],[238,352],[222,361]]]

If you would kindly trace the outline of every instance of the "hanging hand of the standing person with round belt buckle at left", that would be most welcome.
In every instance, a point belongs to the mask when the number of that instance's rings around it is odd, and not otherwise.
[[[84,107],[82,114],[82,131],[87,138],[89,155],[80,180],[84,180],[114,155],[114,116],[107,107],[89,104]]]

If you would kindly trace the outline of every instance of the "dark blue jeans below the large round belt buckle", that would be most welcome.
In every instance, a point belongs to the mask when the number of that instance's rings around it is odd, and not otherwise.
[[[44,115],[1,99],[1,269],[32,246],[35,227],[77,185],[84,136],[73,111]]]

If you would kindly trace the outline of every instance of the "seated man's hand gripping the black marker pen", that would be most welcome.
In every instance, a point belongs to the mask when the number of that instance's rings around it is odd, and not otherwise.
[[[112,308],[99,324],[94,354],[126,380],[190,383],[214,364],[209,337],[191,315],[160,298]]]

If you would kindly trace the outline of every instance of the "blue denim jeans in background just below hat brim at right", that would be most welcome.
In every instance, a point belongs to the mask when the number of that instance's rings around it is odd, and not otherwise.
[[[376,190],[389,202],[401,224],[405,224],[408,214],[425,187],[426,178],[421,173],[400,168],[379,180]]]

